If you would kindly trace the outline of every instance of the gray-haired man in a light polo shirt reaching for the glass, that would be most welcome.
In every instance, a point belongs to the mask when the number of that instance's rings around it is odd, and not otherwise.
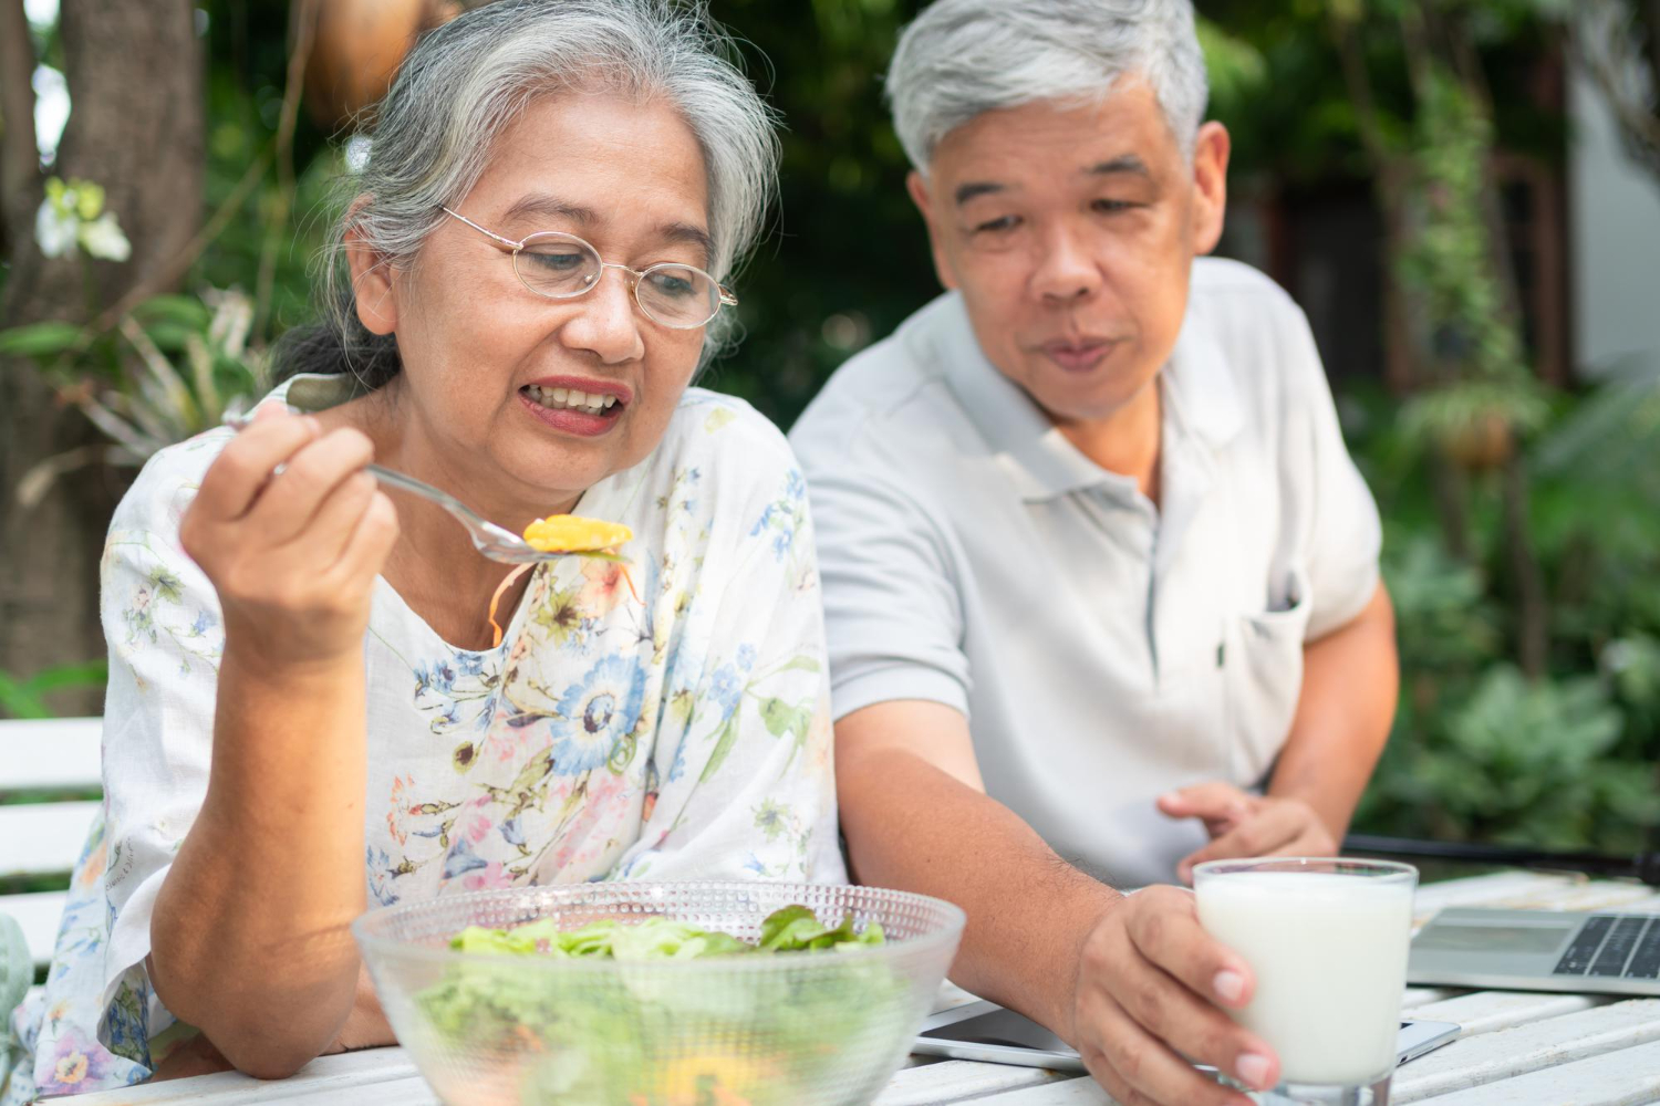
[[[963,904],[956,978],[1120,1101],[1245,1101],[1182,1058],[1275,1081],[1250,970],[1109,884],[1336,849],[1396,698],[1376,507],[1301,312],[1195,260],[1189,0],[940,0],[888,91],[948,292],[792,434],[853,867]]]

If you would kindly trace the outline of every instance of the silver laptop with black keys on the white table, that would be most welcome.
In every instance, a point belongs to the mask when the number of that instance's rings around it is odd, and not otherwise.
[[[1660,995],[1660,915],[1448,909],[1413,939],[1406,982]]]

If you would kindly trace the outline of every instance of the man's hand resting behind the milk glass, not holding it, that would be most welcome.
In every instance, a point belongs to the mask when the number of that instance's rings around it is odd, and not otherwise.
[[[1182,882],[1194,882],[1194,866],[1252,856],[1336,856],[1338,841],[1315,808],[1301,799],[1257,796],[1228,783],[1202,783],[1159,796],[1169,817],[1199,817],[1210,844],[1177,864]]]

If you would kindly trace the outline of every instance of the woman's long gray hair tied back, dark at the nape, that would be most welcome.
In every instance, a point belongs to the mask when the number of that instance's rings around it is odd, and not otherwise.
[[[385,264],[410,267],[447,219],[440,206],[455,207],[483,176],[495,139],[533,99],[566,90],[661,98],[686,119],[709,182],[709,270],[730,275],[762,232],[779,139],[704,0],[495,0],[422,36],[349,144],[367,139],[367,159],[344,181],[347,199],[364,199],[340,217],[324,270],[332,318],[294,335],[282,358],[289,373],[350,371],[370,388],[398,373],[392,337],[357,320],[345,232],[362,234]],[[709,325],[706,358],[732,322],[722,312]]]

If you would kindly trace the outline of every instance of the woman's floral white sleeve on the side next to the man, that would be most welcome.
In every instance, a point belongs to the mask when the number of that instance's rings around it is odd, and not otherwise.
[[[757,449],[720,492],[692,600],[710,607],[667,675],[656,798],[619,879],[847,880],[805,484],[775,429],[759,444],[780,463]]]

